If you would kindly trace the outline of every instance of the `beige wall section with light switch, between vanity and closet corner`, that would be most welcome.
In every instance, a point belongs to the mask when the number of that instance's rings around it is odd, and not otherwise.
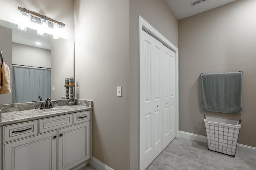
[[[92,156],[128,170],[129,0],[75,0],[75,25],[77,97],[94,103]]]

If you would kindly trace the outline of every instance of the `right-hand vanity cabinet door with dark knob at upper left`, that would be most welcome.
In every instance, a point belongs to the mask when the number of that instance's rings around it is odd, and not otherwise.
[[[69,170],[90,158],[90,122],[58,130],[58,170]]]

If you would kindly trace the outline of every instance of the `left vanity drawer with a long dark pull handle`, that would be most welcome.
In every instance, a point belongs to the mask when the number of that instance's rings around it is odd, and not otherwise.
[[[4,126],[4,142],[38,134],[38,121]]]

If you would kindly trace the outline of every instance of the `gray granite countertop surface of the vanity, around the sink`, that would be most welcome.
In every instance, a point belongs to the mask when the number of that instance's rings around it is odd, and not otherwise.
[[[2,121],[0,125],[8,125],[25,121],[38,120],[47,117],[65,115],[79,111],[91,110],[92,107],[75,105],[75,106],[55,106],[51,109],[29,109],[23,111],[11,111],[2,113]]]

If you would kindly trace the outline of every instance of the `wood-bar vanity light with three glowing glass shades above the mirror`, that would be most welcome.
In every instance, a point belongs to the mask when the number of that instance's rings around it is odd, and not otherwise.
[[[66,26],[66,24],[60,22],[60,21],[56,21],[53,20],[51,18],[48,18],[46,16],[40,15],[36,12],[32,12],[30,10],[27,10],[26,8],[21,8],[18,6],[18,10],[20,10],[20,13],[22,14],[22,16],[26,16],[26,18],[30,18],[30,21],[33,23],[38,23],[38,31],[37,34],[38,35],[44,35],[45,32],[52,32],[50,34],[53,34],[53,38],[54,39],[60,39],[60,33],[62,32],[62,28]],[[25,12],[25,13],[24,13]],[[29,17],[30,16],[30,17]],[[21,30],[26,30],[26,26],[24,26],[25,22],[21,22],[21,24],[18,25],[18,28]],[[55,28],[56,27],[56,28]],[[48,29],[48,31],[47,31]],[[52,29],[52,30],[50,30]]]

